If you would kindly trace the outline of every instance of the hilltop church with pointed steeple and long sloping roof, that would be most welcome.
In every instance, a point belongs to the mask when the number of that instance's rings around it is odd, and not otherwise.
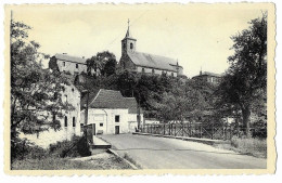
[[[119,60],[119,67],[121,69],[141,74],[166,74],[172,77],[185,77],[183,75],[183,67],[178,64],[177,60],[137,52],[136,47],[137,39],[131,36],[128,21],[127,32],[121,40],[121,57]]]

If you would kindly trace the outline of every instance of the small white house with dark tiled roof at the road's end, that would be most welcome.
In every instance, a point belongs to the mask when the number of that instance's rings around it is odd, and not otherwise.
[[[86,95],[88,100],[88,123],[92,125],[95,134],[119,134],[133,132],[138,128],[138,119],[143,120],[134,97],[124,97],[119,91],[100,89],[97,93]],[[81,110],[80,123],[85,123],[86,108]]]

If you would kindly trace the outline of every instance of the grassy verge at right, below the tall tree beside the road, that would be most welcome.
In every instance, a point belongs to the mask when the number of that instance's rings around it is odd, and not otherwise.
[[[266,139],[232,138],[230,144],[218,144],[216,146],[225,149],[231,149],[241,154],[259,157],[259,158],[267,158]]]

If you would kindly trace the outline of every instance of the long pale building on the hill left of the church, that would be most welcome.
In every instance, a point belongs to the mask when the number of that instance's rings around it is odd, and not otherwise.
[[[61,73],[69,73],[70,75],[80,75],[87,73],[86,58],[68,55],[67,53],[56,53],[49,61],[49,68],[56,69]],[[91,69],[91,75],[94,75],[94,69]]]

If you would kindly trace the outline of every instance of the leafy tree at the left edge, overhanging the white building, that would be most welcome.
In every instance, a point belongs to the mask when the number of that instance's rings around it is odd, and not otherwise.
[[[69,84],[60,73],[42,69],[35,41],[28,41],[29,26],[11,22],[11,154],[16,158],[20,133],[37,134],[60,130],[57,118],[73,106],[62,102],[61,91]],[[44,55],[44,54],[43,54]]]

